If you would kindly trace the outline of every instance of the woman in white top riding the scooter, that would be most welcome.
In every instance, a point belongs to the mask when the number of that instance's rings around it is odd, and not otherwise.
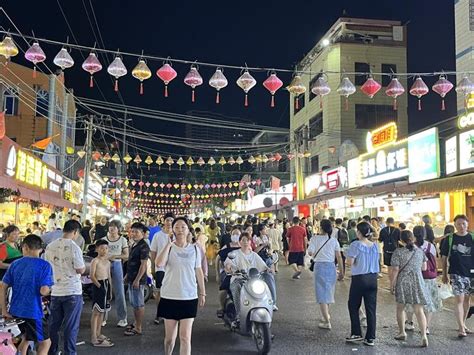
[[[255,252],[252,251],[251,242],[250,242],[250,235],[247,232],[242,233],[240,236],[240,250],[236,250],[234,258],[227,258],[224,266],[225,270],[228,273],[232,273],[233,271],[245,271],[246,273],[249,272],[251,268],[257,269],[259,272],[267,271],[262,276],[264,278],[265,283],[268,285],[270,290],[275,290],[275,278],[271,273],[271,269],[267,267],[265,262],[262,258]],[[242,289],[243,284],[245,281],[240,278],[239,276],[232,276],[230,282],[230,291],[232,293],[232,298],[234,300],[235,310],[236,310],[236,326],[239,326],[240,319],[240,291]],[[276,307],[275,307],[276,308]]]

